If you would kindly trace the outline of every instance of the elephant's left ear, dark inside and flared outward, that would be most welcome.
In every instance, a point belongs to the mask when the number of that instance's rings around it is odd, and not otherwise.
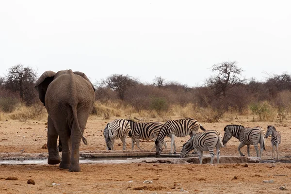
[[[53,81],[54,76],[56,75],[53,71],[46,71],[44,72],[39,79],[36,81],[34,88],[38,92],[38,96],[40,101],[46,106],[45,104],[45,97],[47,93],[48,86],[51,81]]]

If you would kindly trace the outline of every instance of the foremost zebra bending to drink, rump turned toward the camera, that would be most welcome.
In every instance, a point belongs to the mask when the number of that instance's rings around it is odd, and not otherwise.
[[[214,160],[214,147],[217,152],[217,163],[219,163],[220,147],[224,147],[222,144],[222,137],[217,130],[207,130],[194,134],[188,142],[183,145],[180,158],[189,156],[190,151],[195,150],[198,153],[199,162],[202,164],[203,151],[209,151],[211,156],[210,163]]]

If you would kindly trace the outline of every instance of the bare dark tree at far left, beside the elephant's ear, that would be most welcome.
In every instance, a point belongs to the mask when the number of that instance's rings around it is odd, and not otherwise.
[[[5,77],[5,88],[18,92],[20,99],[30,105],[35,99],[33,85],[36,74],[31,67],[24,67],[21,64],[15,65],[8,69],[8,74]]]

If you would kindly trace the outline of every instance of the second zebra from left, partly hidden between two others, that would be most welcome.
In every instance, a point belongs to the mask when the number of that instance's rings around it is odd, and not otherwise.
[[[141,150],[139,146],[139,140],[156,140],[159,134],[160,129],[163,126],[163,123],[159,122],[148,122],[148,123],[137,123],[132,120],[127,120],[130,124],[131,132],[129,137],[131,137],[131,148],[134,147],[134,142],[136,142],[136,146]],[[167,148],[167,143],[163,141],[163,145]],[[152,148],[152,150],[156,147]]]

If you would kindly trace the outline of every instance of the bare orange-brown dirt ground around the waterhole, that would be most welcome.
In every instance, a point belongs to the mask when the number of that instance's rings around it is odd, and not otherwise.
[[[113,118],[111,119],[113,120]],[[291,120],[282,124],[276,122],[251,122],[252,117],[232,119],[228,122],[201,123],[205,129],[216,129],[223,135],[223,129],[228,124],[240,124],[245,127],[274,125],[281,131],[282,143],[279,146],[281,158],[291,156]],[[107,122],[102,118],[90,118],[84,136],[89,145],[81,143],[81,151],[100,152],[105,150],[102,129]],[[0,122],[0,152],[44,153],[47,149],[41,147],[47,143],[46,121],[1,121]],[[189,139],[176,138],[177,152]],[[170,138],[166,138],[169,152]],[[115,142],[115,150],[121,151]],[[144,150],[150,150],[153,142],[141,142]],[[238,155],[239,141],[232,138],[221,155]],[[270,159],[272,147],[270,138],[265,140],[266,151],[262,159]],[[127,150],[131,150],[131,140],[127,139]],[[134,147],[137,151],[137,147]],[[246,146],[242,148],[246,154]],[[251,156],[256,156],[251,146]],[[0,193],[290,193],[291,163],[249,163],[241,164],[81,164],[81,172],[70,173],[60,170],[58,165],[0,165]],[[16,177],[17,180],[6,180]],[[33,179],[35,185],[27,184]],[[273,179],[274,183],[263,183],[263,180]],[[132,180],[132,181],[131,181]],[[152,183],[143,183],[152,180]],[[130,182],[129,182],[130,181]],[[52,185],[52,183],[60,185]],[[279,187],[287,184],[287,191]]]

